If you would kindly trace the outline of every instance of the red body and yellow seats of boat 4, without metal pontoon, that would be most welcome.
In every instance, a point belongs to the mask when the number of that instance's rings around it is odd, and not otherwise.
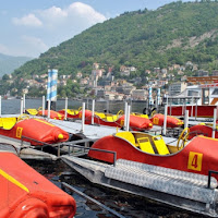
[[[95,142],[92,148],[117,153],[117,159],[126,159],[153,166],[160,166],[186,172],[208,175],[209,170],[218,171],[218,140],[196,136],[187,141],[189,131],[180,137],[165,138],[142,132],[119,132]],[[185,144],[186,143],[186,144]],[[106,162],[113,162],[113,155],[89,150],[88,156]],[[218,179],[218,177],[216,175]]]

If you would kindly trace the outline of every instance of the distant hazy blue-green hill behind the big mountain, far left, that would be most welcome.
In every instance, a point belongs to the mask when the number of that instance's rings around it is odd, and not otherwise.
[[[0,53],[0,77],[3,74],[12,73],[15,69],[29,60],[31,58],[27,57],[12,57]]]

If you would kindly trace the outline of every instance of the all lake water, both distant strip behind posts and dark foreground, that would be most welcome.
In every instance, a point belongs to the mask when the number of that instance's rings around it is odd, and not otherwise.
[[[21,100],[11,99],[2,100],[2,114],[20,113]],[[81,101],[69,100],[69,108],[77,109],[82,106]],[[92,104],[87,104],[86,108],[90,109]],[[41,99],[26,99],[26,108],[41,107]],[[57,110],[64,108],[64,100],[58,100]],[[117,113],[120,109],[124,108],[124,102],[96,102],[96,111],[104,111],[109,108],[113,113]],[[133,102],[132,111],[142,112],[145,108],[144,102]],[[166,206],[153,201],[148,201],[142,197],[124,194],[118,191],[112,191],[99,185],[94,185],[85,178],[71,170],[61,160],[56,162],[43,162],[43,161],[27,161],[39,173],[44,174],[47,179],[53,182],[56,185],[61,186],[61,182],[66,182],[88,196],[99,201],[106,206],[117,210],[119,214],[126,218],[181,218],[181,217],[199,217],[198,215],[189,214],[186,211]],[[63,175],[69,174],[71,175]],[[75,193],[71,194],[76,201],[76,216],[75,218],[109,218],[114,217],[108,211],[102,210],[97,205],[86,201]]]

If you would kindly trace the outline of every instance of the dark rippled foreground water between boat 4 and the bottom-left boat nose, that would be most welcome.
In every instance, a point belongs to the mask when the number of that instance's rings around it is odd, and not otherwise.
[[[114,209],[126,218],[198,218],[184,210],[159,204],[144,197],[129,195],[107,187],[92,184],[88,180],[71,170],[61,160],[56,162],[27,161],[38,172],[61,187],[61,182],[66,182],[86,195],[97,199]],[[65,174],[65,175],[64,175]],[[70,174],[70,175],[68,175]],[[97,205],[86,201],[75,193],[70,193],[76,201],[75,218],[109,218],[114,217]]]

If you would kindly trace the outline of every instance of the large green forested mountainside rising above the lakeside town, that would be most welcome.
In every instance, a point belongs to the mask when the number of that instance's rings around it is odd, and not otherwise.
[[[186,61],[218,69],[217,0],[177,1],[155,11],[125,12],[49,49],[14,74],[43,74],[48,65],[59,69],[59,74],[89,74],[98,62],[113,65],[117,75],[122,64],[136,66],[142,75],[145,69]]]

